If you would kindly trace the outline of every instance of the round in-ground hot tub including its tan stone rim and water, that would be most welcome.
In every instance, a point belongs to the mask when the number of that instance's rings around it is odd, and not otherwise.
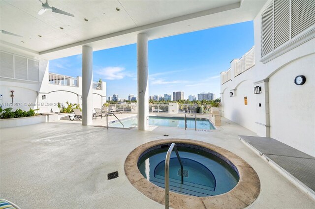
[[[144,195],[164,205],[165,155],[173,142],[183,161],[184,183],[174,153],[170,160],[171,208],[245,208],[257,198],[259,178],[246,161],[215,145],[187,139],[152,141],[128,155],[126,176]]]

